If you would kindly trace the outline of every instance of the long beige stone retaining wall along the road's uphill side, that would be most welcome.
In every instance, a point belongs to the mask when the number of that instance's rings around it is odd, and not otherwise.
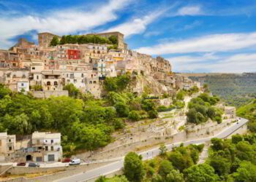
[[[142,141],[136,141],[134,143],[125,143],[120,146],[113,146],[113,148],[107,148],[104,151],[94,152],[92,159],[111,159],[116,157],[122,157],[129,151],[146,151],[153,147],[156,147],[160,143],[178,143],[184,141],[190,141],[196,138],[208,138],[216,135],[225,127],[230,125],[231,120],[217,124],[217,122],[207,122],[205,124],[199,124],[182,132],[178,132],[175,135],[159,135],[149,137]],[[91,159],[87,153],[77,154],[76,157],[81,159]]]

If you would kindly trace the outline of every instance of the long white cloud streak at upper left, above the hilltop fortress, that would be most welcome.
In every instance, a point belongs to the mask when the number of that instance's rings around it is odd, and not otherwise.
[[[48,12],[47,15],[23,15],[21,17],[0,17],[0,47],[10,47],[8,39],[28,31],[50,31],[57,34],[88,31],[98,25],[116,20],[116,12],[132,0],[110,0],[108,4],[95,7],[89,12],[78,9],[64,9]]]

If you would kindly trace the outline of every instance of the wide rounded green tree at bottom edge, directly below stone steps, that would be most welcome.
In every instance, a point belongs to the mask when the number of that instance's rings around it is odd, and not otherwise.
[[[184,170],[185,179],[188,182],[213,182],[218,180],[214,174],[214,168],[207,164],[193,165]]]

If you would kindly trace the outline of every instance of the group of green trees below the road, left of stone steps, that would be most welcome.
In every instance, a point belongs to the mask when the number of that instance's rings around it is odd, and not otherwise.
[[[130,152],[124,159],[124,175],[116,176],[118,181],[184,181],[184,179],[203,178],[197,176],[200,172],[195,170],[195,164],[198,161],[203,145],[179,146],[173,151],[164,152],[154,159],[142,162],[138,154]],[[203,165],[202,174],[207,179],[217,178],[214,170],[209,165]],[[201,168],[201,167],[199,167]],[[204,171],[204,169],[206,170]],[[210,173],[209,173],[210,172]],[[100,177],[97,181],[112,181],[113,178],[107,179]]]

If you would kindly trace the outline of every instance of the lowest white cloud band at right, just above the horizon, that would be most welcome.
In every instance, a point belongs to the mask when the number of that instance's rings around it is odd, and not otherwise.
[[[174,65],[175,71],[216,73],[242,73],[256,71],[256,54],[236,54],[229,56],[202,55],[167,58]]]

